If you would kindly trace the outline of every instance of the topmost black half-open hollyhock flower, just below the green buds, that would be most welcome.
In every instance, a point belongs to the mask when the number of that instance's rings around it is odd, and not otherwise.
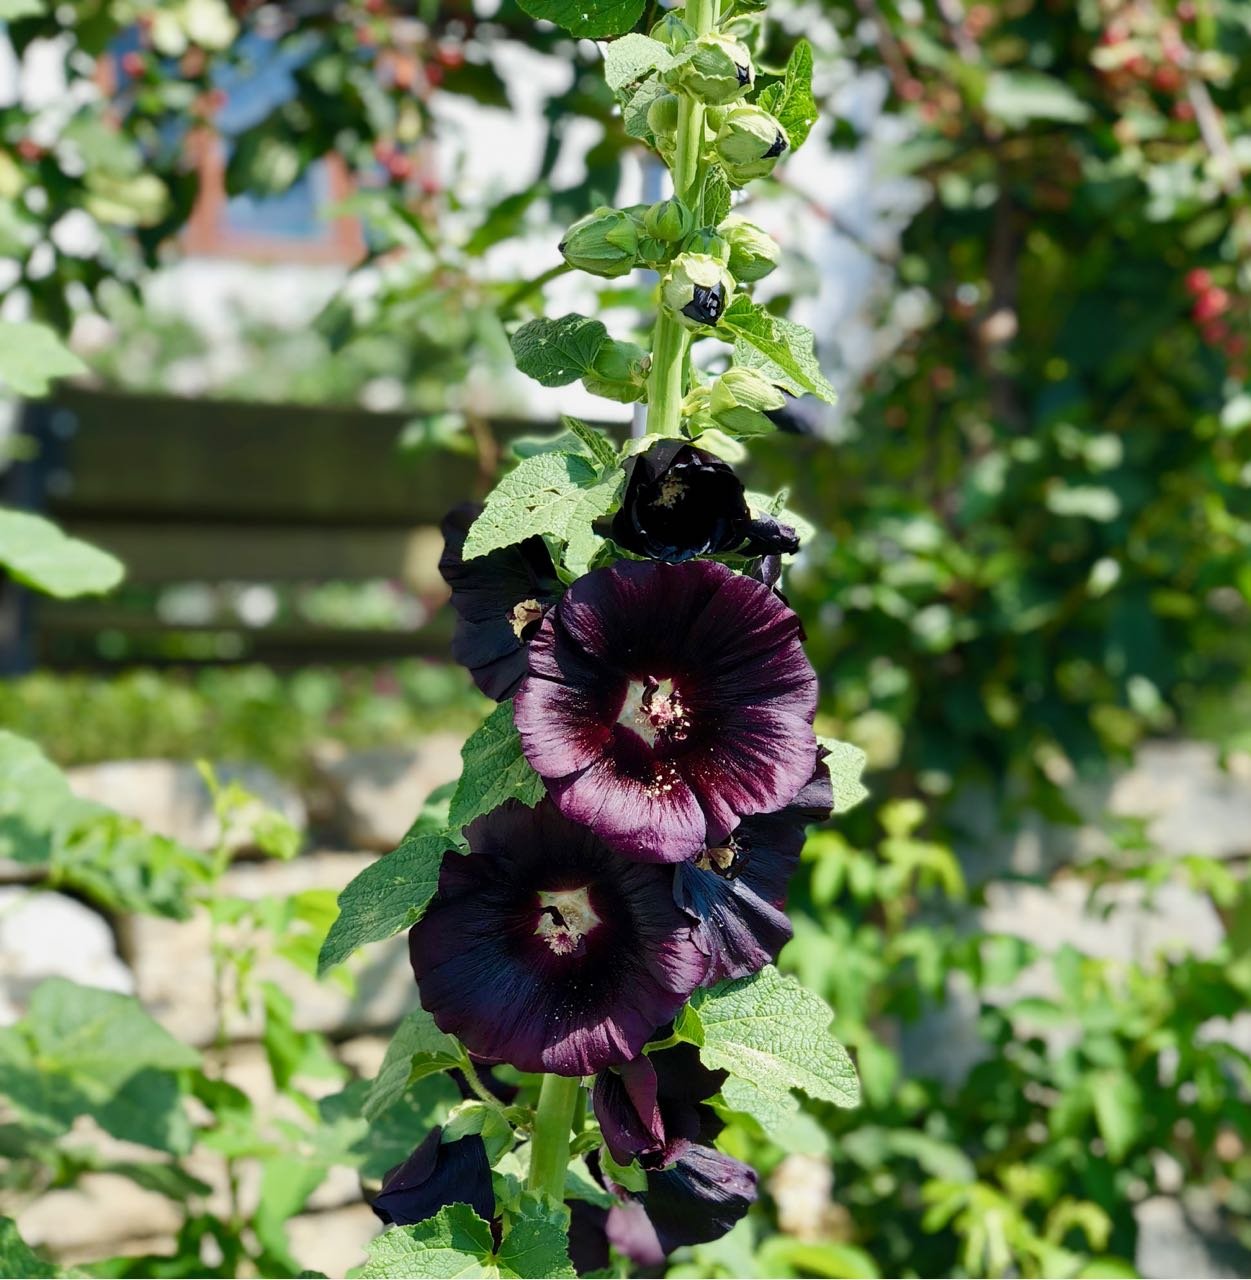
[[[732,467],[693,444],[661,440],[625,466],[621,509],[604,531],[627,552],[677,562],[799,550],[795,530],[772,516],[753,518]]]

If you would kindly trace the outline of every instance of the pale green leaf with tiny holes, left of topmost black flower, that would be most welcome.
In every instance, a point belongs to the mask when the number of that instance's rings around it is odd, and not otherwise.
[[[487,498],[465,539],[474,559],[526,538],[565,538],[574,512],[570,499],[599,481],[597,468],[576,453],[539,453],[519,463]]]

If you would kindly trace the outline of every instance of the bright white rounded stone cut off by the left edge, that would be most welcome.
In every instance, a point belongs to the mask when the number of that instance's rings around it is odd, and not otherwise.
[[[18,1020],[45,978],[129,995],[134,978],[108,922],[63,893],[0,888],[0,1025]]]

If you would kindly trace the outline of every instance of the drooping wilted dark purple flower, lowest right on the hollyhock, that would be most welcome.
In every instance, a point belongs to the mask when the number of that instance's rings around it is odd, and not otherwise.
[[[598,1172],[594,1153],[586,1164]],[[627,1192],[599,1176],[618,1201],[609,1210],[575,1208],[570,1257],[580,1274],[607,1265],[609,1243],[631,1262],[658,1267],[684,1244],[720,1239],[757,1196],[754,1169],[694,1143],[680,1144],[668,1167],[649,1172],[642,1192]]]

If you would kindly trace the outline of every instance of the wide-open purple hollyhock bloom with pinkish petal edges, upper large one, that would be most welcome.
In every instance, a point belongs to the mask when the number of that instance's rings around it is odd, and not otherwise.
[[[676,863],[795,799],[816,707],[799,620],[763,582],[626,562],[543,620],[516,722],[566,817],[626,858]]]

